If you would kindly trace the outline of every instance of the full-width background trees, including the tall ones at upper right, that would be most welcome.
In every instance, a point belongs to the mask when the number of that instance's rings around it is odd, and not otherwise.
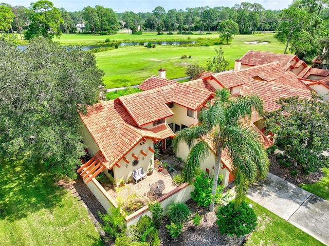
[[[34,36],[60,36],[62,33],[108,34],[126,28],[133,34],[142,30],[220,32],[228,43],[234,34],[255,31],[276,31],[275,37],[285,43],[284,53],[290,51],[306,62],[321,54],[327,47],[329,8],[327,0],[294,0],[283,10],[265,10],[261,4],[235,4],[233,7],[209,6],[169,9],[158,6],[152,12],[125,11],[116,13],[111,8],[96,5],[69,12],[56,8],[47,0],[31,3],[28,8],[0,4],[0,32],[20,33],[21,39]],[[327,55],[328,56],[328,55]],[[327,57],[325,56],[325,57]]]

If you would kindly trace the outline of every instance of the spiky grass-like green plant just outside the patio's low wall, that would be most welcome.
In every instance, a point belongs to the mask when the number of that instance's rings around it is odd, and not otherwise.
[[[171,222],[178,224],[189,220],[191,211],[185,203],[172,201],[167,209],[167,216]]]

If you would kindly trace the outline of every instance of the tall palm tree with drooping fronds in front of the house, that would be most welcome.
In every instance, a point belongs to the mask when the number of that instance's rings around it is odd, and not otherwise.
[[[208,102],[207,107],[200,111],[199,124],[182,129],[173,140],[174,149],[182,142],[190,148],[184,169],[189,182],[197,175],[200,163],[211,154],[211,146],[215,155],[215,171],[210,211],[214,210],[223,149],[233,163],[235,206],[243,201],[249,184],[258,178],[265,178],[268,172],[269,160],[259,134],[245,120],[246,117],[251,118],[252,110],[262,112],[263,104],[259,97],[231,97],[227,89],[217,90],[213,102]],[[196,140],[200,141],[195,144]]]

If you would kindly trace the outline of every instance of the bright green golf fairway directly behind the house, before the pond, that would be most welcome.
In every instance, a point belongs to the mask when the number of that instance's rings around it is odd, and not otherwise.
[[[268,41],[270,43],[266,45],[245,43],[251,41]],[[98,67],[105,71],[106,88],[116,88],[140,84],[152,75],[157,75],[158,69],[161,67],[167,70],[166,78],[168,79],[185,77],[188,65],[199,64],[206,67],[207,60],[215,55],[214,48],[219,47],[156,46],[156,48],[147,49],[143,46],[125,46],[95,55]],[[234,67],[234,61],[241,58],[250,49],[279,53],[284,49],[284,45],[276,41],[273,34],[236,35],[231,44],[221,47],[231,68]],[[184,54],[191,55],[191,59],[180,59]]]

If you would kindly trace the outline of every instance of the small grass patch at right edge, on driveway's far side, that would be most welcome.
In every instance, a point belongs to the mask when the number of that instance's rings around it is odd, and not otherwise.
[[[324,177],[314,184],[300,184],[299,187],[329,201],[329,169],[323,168]]]

